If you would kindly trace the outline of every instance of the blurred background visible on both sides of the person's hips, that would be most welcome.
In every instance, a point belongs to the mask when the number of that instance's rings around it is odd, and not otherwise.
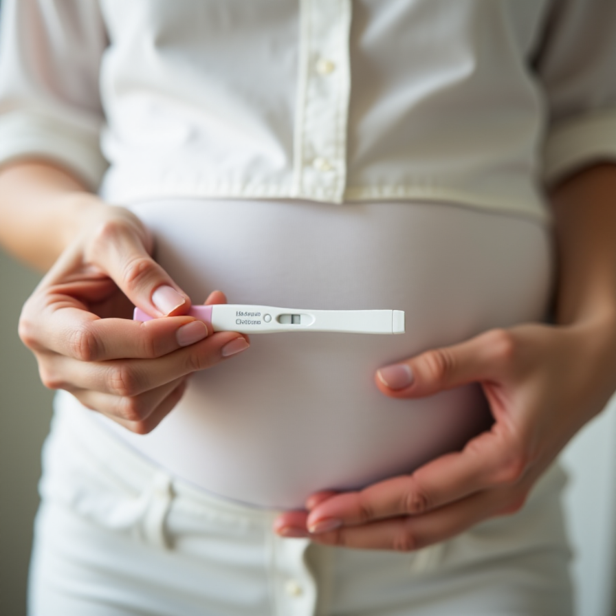
[[[41,445],[52,416],[53,394],[17,336],[21,305],[38,280],[0,250],[0,616],[25,614]],[[576,614],[616,616],[616,399],[577,435],[563,461],[571,477],[565,507]]]

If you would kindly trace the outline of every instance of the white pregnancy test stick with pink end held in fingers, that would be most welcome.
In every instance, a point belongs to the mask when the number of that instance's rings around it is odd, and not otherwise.
[[[305,310],[250,304],[214,304],[192,306],[188,315],[210,324],[214,331],[404,333],[402,310]],[[135,308],[133,318],[137,321],[152,319],[139,308]]]

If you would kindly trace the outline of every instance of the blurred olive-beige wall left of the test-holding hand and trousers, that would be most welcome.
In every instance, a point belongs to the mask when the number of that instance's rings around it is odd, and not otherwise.
[[[0,224],[2,222],[0,221]],[[52,393],[17,337],[21,305],[39,276],[0,252],[0,614],[25,614],[32,521],[39,502],[41,444]]]

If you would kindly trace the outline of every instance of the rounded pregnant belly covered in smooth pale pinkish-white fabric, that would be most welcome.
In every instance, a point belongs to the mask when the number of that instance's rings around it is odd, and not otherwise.
[[[194,303],[406,311],[406,333],[278,333],[192,376],[143,454],[221,496],[301,507],[461,448],[489,424],[477,386],[383,396],[375,370],[492,327],[540,320],[551,278],[540,224],[435,203],[211,201],[133,206]]]

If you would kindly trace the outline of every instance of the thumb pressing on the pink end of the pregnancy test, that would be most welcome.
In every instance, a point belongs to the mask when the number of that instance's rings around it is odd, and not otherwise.
[[[150,316],[186,314],[190,298],[150,256],[151,238],[132,215],[107,221],[86,251],[131,302]]]

